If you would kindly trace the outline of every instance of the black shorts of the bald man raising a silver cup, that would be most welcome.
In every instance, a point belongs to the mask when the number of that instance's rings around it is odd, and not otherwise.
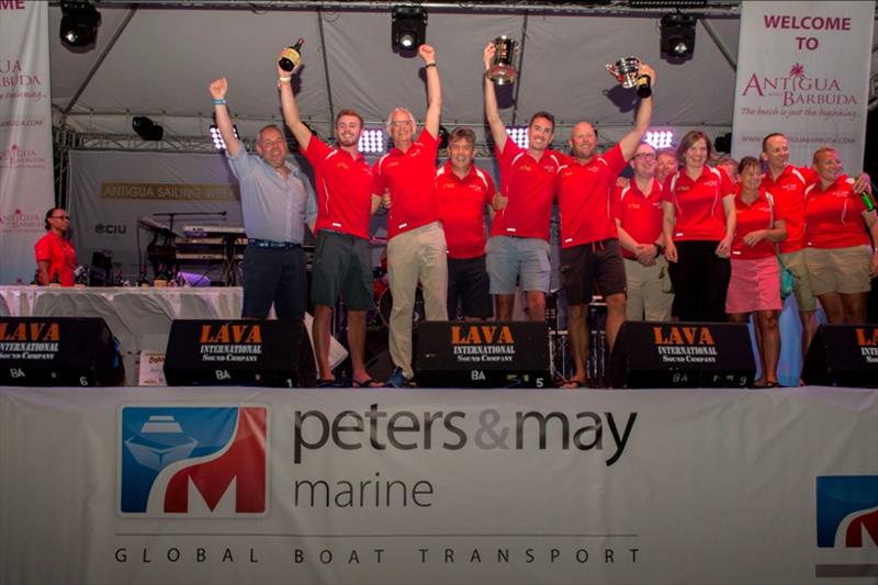
[[[624,293],[624,262],[616,238],[561,250],[561,284],[571,305],[592,302],[593,284],[605,297]]]

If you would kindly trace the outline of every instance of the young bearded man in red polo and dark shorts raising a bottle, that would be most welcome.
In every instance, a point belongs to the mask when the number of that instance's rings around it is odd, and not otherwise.
[[[354,386],[381,385],[365,370],[365,315],[372,307],[372,254],[369,221],[378,209],[372,195],[372,169],[359,150],[363,119],[353,110],[336,116],[337,147],[320,140],[302,122],[291,76],[278,69],[283,120],[299,147],[314,168],[317,187],[317,246],[314,255],[311,297],[314,303],[312,327],[317,357],[317,387],[336,386],[329,368],[329,324],[339,296],[347,307],[348,347],[351,382]]]

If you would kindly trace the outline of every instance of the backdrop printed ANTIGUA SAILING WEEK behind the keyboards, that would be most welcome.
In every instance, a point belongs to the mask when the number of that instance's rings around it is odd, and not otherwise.
[[[176,215],[173,228],[178,232],[184,224],[243,224],[238,182],[219,153],[72,150],[69,199],[80,262],[90,262],[95,251],[110,250],[130,279],[139,270],[138,236],[145,254],[156,235],[138,227],[142,216],[203,214]],[[170,216],[156,220],[171,227]],[[151,269],[149,274],[151,279]]]

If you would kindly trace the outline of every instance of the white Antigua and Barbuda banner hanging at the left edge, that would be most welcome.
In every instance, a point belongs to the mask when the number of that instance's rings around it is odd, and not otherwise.
[[[31,282],[55,204],[48,2],[0,2],[0,284]]]

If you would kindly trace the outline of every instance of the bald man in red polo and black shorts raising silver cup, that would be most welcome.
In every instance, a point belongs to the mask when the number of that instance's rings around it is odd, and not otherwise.
[[[642,75],[655,85],[655,71],[641,64]],[[588,353],[586,306],[596,282],[607,303],[607,345],[612,351],[616,334],[626,317],[626,275],[611,198],[616,178],[634,155],[650,127],[652,97],[638,108],[634,128],[619,143],[597,155],[597,133],[588,122],[573,127],[571,155],[558,170],[558,207],[561,215],[561,283],[567,297],[567,333],[575,372],[565,387],[586,383]]]

